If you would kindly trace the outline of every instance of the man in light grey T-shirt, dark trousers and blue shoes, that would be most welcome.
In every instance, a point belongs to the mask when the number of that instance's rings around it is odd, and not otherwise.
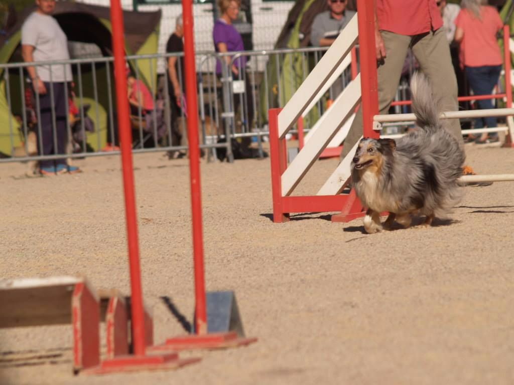
[[[26,63],[69,59],[68,40],[51,14],[56,0],[35,0],[37,8],[22,26],[22,56]],[[38,116],[38,147],[40,155],[66,153],[68,130],[66,87],[72,81],[70,65],[33,65],[27,67],[32,81]],[[55,126],[53,124],[55,118]],[[80,172],[68,166],[66,158],[41,160],[42,175]]]

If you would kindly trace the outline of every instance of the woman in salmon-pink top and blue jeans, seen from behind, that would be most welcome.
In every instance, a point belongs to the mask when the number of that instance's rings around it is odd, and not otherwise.
[[[502,69],[502,54],[497,33],[503,27],[498,11],[487,0],[463,0],[462,10],[455,19],[455,41],[461,44],[461,65],[475,95],[489,95],[498,84]],[[494,108],[492,100],[477,101],[480,109]],[[475,128],[497,127],[495,117],[476,118]],[[484,133],[481,138],[468,137],[478,144],[498,142],[498,133]]]

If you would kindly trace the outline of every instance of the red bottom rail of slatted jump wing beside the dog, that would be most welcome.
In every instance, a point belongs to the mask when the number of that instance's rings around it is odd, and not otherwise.
[[[323,213],[341,211],[347,195],[314,195],[282,197],[282,213]]]

